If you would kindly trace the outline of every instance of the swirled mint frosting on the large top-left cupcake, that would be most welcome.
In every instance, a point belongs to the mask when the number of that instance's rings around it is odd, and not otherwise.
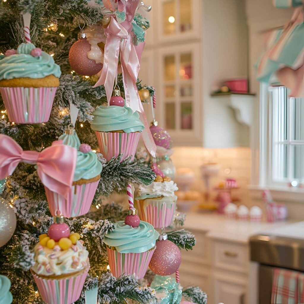
[[[33,57],[30,53],[35,46],[33,43],[21,43],[17,54],[4,57],[0,60],[0,80],[21,77],[44,78],[54,75],[59,78],[60,67],[55,64],[53,57],[42,52],[41,56]]]

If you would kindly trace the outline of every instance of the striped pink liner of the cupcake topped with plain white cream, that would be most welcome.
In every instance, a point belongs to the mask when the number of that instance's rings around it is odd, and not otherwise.
[[[141,220],[154,228],[166,228],[171,225],[176,207],[176,199],[140,199],[137,209]]]

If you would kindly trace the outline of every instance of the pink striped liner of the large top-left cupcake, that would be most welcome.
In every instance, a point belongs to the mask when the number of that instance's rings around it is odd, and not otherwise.
[[[11,122],[46,123],[50,119],[57,87],[1,87],[3,102]]]

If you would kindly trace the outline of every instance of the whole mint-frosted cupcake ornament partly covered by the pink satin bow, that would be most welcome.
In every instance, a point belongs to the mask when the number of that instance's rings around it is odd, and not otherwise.
[[[59,140],[62,140],[64,145],[77,149],[77,161],[73,183],[66,197],[45,189],[50,212],[52,216],[58,214],[65,217],[81,216],[91,207],[100,180],[102,164],[90,145],[80,144],[72,126],[67,128]]]

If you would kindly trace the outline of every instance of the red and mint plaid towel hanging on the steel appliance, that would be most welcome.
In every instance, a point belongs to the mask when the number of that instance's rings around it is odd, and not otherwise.
[[[298,278],[297,271],[275,268],[271,304],[298,304]]]

